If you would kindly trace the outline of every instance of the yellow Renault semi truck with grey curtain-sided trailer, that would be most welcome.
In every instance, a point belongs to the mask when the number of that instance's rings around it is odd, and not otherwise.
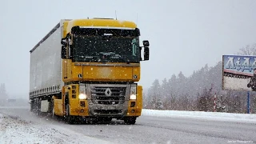
[[[142,112],[139,45],[134,22],[111,18],[62,19],[30,50],[30,110],[66,119],[134,124]]]

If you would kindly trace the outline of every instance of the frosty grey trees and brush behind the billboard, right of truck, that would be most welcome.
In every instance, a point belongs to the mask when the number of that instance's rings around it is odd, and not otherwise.
[[[256,55],[256,43],[242,47],[238,54]],[[222,90],[222,62],[215,66],[205,65],[190,77],[180,72],[162,82],[155,79],[144,94],[144,108],[157,110],[214,110],[229,113],[246,113],[247,97],[244,91]],[[256,94],[250,93],[251,113],[256,113]]]

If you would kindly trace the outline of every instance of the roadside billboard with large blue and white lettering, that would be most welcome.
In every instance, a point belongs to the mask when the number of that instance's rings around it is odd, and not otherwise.
[[[256,56],[222,56],[222,90],[256,91]]]

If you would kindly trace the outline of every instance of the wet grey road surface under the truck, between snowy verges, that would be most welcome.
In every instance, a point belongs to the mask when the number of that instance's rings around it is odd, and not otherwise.
[[[0,107],[0,114],[10,118],[34,122],[113,143],[256,143],[256,124],[250,122],[225,122],[198,118],[172,118],[142,115],[135,125],[124,125],[112,120],[110,124],[68,125],[49,117],[38,117],[28,108]],[[64,133],[64,132],[62,132]],[[68,136],[68,134],[66,134]],[[102,141],[102,142],[103,142]],[[61,143],[61,142],[60,142]]]

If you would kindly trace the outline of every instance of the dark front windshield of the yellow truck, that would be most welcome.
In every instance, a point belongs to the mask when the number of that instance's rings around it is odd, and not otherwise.
[[[140,62],[138,37],[74,37],[74,62]]]

